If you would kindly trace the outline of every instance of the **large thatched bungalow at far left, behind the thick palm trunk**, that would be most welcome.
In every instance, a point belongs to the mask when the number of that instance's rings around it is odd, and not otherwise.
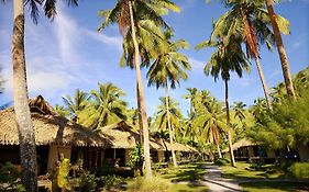
[[[63,116],[38,95],[30,101],[31,117],[35,131],[38,174],[54,170],[59,156],[78,159],[86,168],[100,166],[100,150],[107,139]],[[19,131],[14,109],[0,111],[0,163],[11,161],[20,165]]]

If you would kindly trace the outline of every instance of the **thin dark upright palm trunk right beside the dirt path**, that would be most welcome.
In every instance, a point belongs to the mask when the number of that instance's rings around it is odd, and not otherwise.
[[[227,108],[225,111],[227,111],[227,126],[228,126],[230,159],[231,159],[231,166],[236,167],[233,147],[232,147],[232,131],[231,131],[230,105],[229,105],[229,82],[227,79],[224,81],[225,81],[225,108]]]

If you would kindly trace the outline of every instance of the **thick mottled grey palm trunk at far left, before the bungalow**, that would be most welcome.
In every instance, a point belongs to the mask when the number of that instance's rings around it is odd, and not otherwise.
[[[19,129],[22,183],[25,191],[35,192],[37,191],[37,162],[26,86],[24,56],[24,0],[14,0],[12,43],[14,111]]]

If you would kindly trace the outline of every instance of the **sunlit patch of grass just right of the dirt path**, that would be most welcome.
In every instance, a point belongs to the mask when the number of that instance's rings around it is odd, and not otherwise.
[[[284,171],[273,165],[265,165],[258,169],[251,169],[247,162],[238,162],[236,168],[222,166],[223,177],[228,179],[279,179],[284,178]]]

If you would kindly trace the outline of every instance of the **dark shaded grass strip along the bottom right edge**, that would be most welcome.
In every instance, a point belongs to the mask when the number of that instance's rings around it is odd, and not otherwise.
[[[240,184],[247,192],[302,192],[309,191],[309,182],[250,182]]]

